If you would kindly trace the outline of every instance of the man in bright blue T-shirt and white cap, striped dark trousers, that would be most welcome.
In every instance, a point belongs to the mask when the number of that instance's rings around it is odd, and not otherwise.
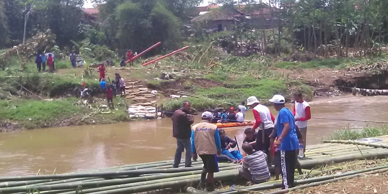
[[[275,110],[279,112],[276,118],[275,148],[280,150],[282,189],[288,189],[294,186],[296,150],[299,149],[295,120],[291,111],[285,107],[286,100],[283,96],[275,95],[269,101],[274,103]]]

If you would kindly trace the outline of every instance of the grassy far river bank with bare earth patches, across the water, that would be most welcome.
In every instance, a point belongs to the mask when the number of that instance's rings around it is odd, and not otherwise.
[[[281,94],[291,102],[292,93],[296,91],[302,92],[306,100],[311,101],[314,97],[340,96],[342,91],[350,92],[347,87],[358,86],[363,80],[376,77],[374,75],[379,75],[377,80],[369,79],[361,86],[381,89],[385,87],[381,83],[388,78],[377,71],[379,68],[362,69],[359,64],[367,63],[364,58],[302,63],[251,56],[229,57],[220,61],[222,65],[207,68],[190,62],[187,54],[179,53],[149,68],[117,69],[107,66],[107,80],[113,80],[114,73],[119,73],[127,86],[136,82],[149,91],[158,91],[155,97],[142,97],[141,100],[133,98],[131,93],[126,97],[115,97],[114,109],[106,107],[107,101],[99,89],[96,66],[73,69],[70,63],[59,61],[60,68],[54,74],[34,73],[33,64],[27,65],[29,68],[23,72],[11,66],[0,72],[0,81],[4,83],[4,87],[0,88],[0,131],[132,121],[134,119],[125,113],[127,107],[149,101],[156,101],[158,109],[168,112],[178,109],[183,100],[191,101],[192,108],[198,112],[209,108],[237,107],[249,96],[258,97],[265,105],[271,105],[268,99],[274,94]],[[373,59],[376,64],[382,61],[384,58]],[[141,63],[137,61],[135,67]],[[161,73],[171,74],[173,79],[161,80]],[[92,90],[93,100],[85,102],[78,99],[82,82],[86,82]],[[170,95],[182,96],[171,89],[213,100],[190,96],[171,98]]]

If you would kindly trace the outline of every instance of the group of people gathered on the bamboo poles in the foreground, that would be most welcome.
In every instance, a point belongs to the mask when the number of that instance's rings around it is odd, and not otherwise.
[[[225,130],[218,129],[214,121],[225,119],[226,122],[226,115],[231,114],[237,119],[238,113],[244,117],[245,111],[249,109],[244,106],[244,102],[238,106],[237,113],[229,109],[220,116],[216,111],[206,111],[201,114],[200,123],[191,127],[194,124],[191,104],[184,101],[182,108],[172,117],[173,137],[177,139],[178,145],[173,168],[178,168],[181,153],[186,150],[185,167],[191,167],[191,159],[196,161],[198,156],[202,159],[204,167],[200,187],[208,191],[214,190],[214,173],[219,172],[218,162],[225,158],[231,162],[240,162],[242,166],[239,175],[251,184],[267,181],[271,177],[268,166],[273,164],[275,178],[282,176],[282,189],[293,187],[295,169],[302,174],[298,161],[299,145],[303,144],[303,151],[306,150],[307,120],[311,118],[310,107],[303,100],[302,94],[295,93],[293,97],[293,111],[285,107],[286,101],[281,95],[275,95],[269,100],[278,112],[276,118],[256,97],[247,98],[246,105],[252,109],[256,123],[252,128],[244,130],[242,154],[238,150],[229,151],[238,146],[237,140],[227,137]],[[301,157],[304,155],[299,155]]]

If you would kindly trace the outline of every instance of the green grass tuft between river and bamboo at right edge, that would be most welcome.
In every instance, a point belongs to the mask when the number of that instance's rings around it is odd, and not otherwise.
[[[383,127],[366,127],[363,129],[345,128],[337,130],[327,139],[329,140],[356,140],[367,137],[376,137],[388,135],[388,126]]]

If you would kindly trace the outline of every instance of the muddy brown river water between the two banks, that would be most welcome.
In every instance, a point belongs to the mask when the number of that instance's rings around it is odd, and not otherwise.
[[[382,125],[346,123],[341,119],[387,121],[387,102],[386,96],[314,99],[310,102],[312,119],[308,123],[307,144],[320,143],[333,131],[347,126]],[[291,109],[292,104],[287,106]],[[270,109],[276,116],[274,108]],[[245,119],[253,119],[251,111]],[[199,121],[196,116],[195,123]],[[226,133],[232,139],[236,136],[241,146],[244,129],[226,128]],[[65,173],[172,160],[175,149],[171,118],[4,132],[0,134],[0,176],[33,175],[39,170],[40,174],[52,174],[54,169],[56,173]]]

